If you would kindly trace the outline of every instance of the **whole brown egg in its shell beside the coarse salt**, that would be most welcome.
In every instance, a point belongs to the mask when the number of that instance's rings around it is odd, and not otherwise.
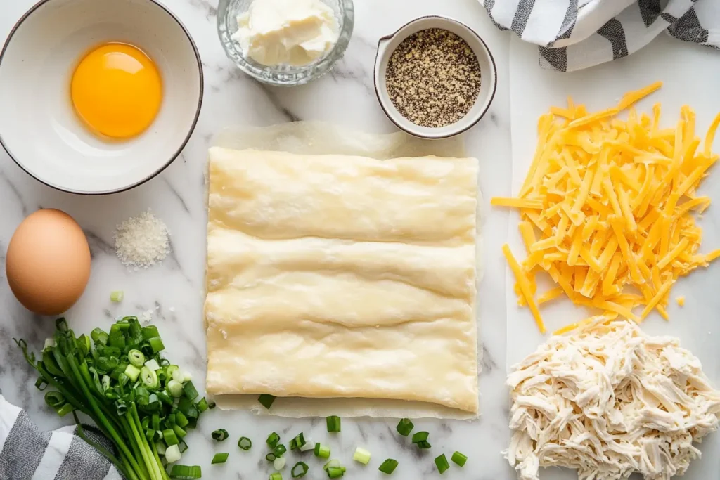
[[[65,212],[30,214],[10,239],[5,260],[12,293],[28,310],[58,315],[78,301],[90,278],[90,248]]]

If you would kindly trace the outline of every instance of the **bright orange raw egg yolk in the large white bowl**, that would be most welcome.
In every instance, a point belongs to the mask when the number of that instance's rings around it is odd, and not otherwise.
[[[108,43],[88,53],[71,82],[78,116],[100,135],[134,137],[155,119],[163,84],[153,60],[137,47]]]

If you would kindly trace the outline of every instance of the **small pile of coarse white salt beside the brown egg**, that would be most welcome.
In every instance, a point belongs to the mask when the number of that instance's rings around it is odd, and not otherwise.
[[[115,231],[115,253],[126,267],[148,268],[170,253],[168,227],[148,209],[131,217]]]

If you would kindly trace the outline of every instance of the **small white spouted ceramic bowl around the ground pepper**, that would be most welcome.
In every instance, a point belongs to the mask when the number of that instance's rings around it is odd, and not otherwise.
[[[480,64],[480,93],[477,95],[475,103],[462,119],[445,127],[421,127],[403,117],[402,114],[397,111],[395,105],[392,104],[390,96],[387,94],[387,86],[385,84],[387,63],[395,51],[395,48],[397,48],[405,38],[428,28],[448,30],[462,37],[462,39],[467,42],[467,45],[472,48]],[[392,35],[381,37],[378,42],[377,57],[375,58],[375,92],[377,93],[380,107],[382,107],[392,123],[410,135],[415,135],[415,137],[446,138],[468,130],[479,122],[482,116],[485,115],[485,112],[487,112],[487,109],[490,108],[490,103],[495,96],[495,90],[497,88],[498,71],[497,68],[495,68],[495,60],[492,58],[490,49],[487,48],[485,42],[474,30],[457,20],[436,16],[420,17],[403,25],[400,27],[400,30],[397,30],[397,32]]]

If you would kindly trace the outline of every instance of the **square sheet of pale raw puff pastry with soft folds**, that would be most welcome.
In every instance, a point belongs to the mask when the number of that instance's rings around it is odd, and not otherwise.
[[[207,391],[477,414],[477,160],[210,149]]]

